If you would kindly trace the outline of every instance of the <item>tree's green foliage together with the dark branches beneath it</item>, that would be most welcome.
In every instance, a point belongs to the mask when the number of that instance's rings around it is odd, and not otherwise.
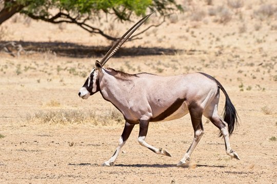
[[[148,9],[156,10],[156,13],[163,17],[176,10],[183,11],[182,6],[175,0],[6,0],[5,8],[15,10],[13,13],[21,12],[33,19],[53,24],[62,22],[76,24],[90,33],[101,34],[110,40],[117,40],[117,38],[91,25],[93,20],[103,17],[101,12],[112,14],[118,20],[126,21],[131,20],[133,14],[145,16],[149,13]],[[0,11],[0,25],[9,18],[1,13]],[[155,26],[159,25],[161,24]]]

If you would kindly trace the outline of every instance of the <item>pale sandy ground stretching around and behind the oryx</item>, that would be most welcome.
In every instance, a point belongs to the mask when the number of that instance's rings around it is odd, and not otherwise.
[[[192,2],[195,5],[195,1]],[[214,2],[213,6],[204,6],[203,1],[203,10],[221,4]],[[185,168],[176,167],[193,139],[190,118],[186,116],[150,124],[147,142],[167,149],[172,157],[156,155],[140,146],[138,127],[135,127],[114,166],[101,167],[114,153],[124,123],[100,126],[28,119],[37,112],[59,110],[92,110],[101,119],[101,114],[114,109],[99,93],[88,100],[77,96],[98,58],[58,57],[51,52],[20,57],[0,53],[0,182],[275,183],[277,31],[274,25],[277,21],[274,15],[265,20],[251,18],[262,5],[260,1],[249,2],[245,1],[240,9],[244,21],[227,5],[232,13],[227,25],[213,21],[214,17],[208,14],[201,21],[186,17],[189,13],[186,16],[177,14],[177,22],[168,20],[144,39],[126,44],[128,47],[196,49],[197,52],[118,57],[107,63],[109,67],[128,73],[168,76],[204,72],[214,76],[227,90],[241,119],[230,140],[241,160],[230,159],[225,154],[224,141],[217,137],[218,130],[203,119],[205,134],[192,153],[191,163]],[[274,1],[267,3],[277,7]],[[23,17],[19,19],[24,20]],[[240,33],[243,24],[247,29]],[[261,28],[255,30],[258,24]],[[28,26],[14,20],[4,26],[13,30],[5,40],[109,44],[97,36],[87,39],[87,33],[76,36],[82,31],[71,26],[59,30],[44,22],[31,21]],[[22,28],[20,31],[15,29],[18,26]],[[176,31],[177,28],[183,32]],[[53,30],[55,34],[50,34]],[[223,106],[222,96],[220,111]]]

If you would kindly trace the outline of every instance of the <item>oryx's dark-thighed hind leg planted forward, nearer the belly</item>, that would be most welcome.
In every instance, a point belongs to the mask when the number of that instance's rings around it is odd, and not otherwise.
[[[182,167],[188,164],[190,161],[190,155],[193,152],[196,145],[199,143],[202,135],[204,134],[204,128],[202,125],[202,113],[203,109],[197,105],[193,107],[189,107],[189,113],[191,117],[191,122],[194,130],[194,137],[193,141],[185,153],[184,157],[180,160],[180,162],[177,164],[177,166]]]

